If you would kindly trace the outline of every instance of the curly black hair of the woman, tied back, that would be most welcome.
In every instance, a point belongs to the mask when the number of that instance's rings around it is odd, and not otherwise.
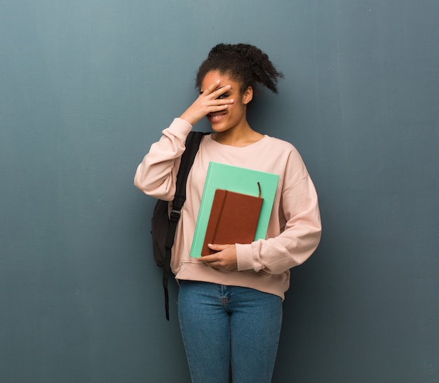
[[[250,44],[224,44],[214,46],[198,68],[196,88],[208,72],[218,71],[227,74],[231,79],[241,83],[241,93],[249,86],[255,89],[257,83],[266,86],[273,93],[278,93],[278,79],[283,74],[278,72],[269,60],[269,56],[256,46]]]

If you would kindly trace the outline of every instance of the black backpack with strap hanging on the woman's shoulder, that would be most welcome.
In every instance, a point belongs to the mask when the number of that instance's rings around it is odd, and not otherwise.
[[[163,288],[165,290],[165,310],[166,319],[169,321],[169,296],[168,296],[168,278],[170,274],[170,253],[174,244],[175,230],[177,229],[178,220],[180,220],[180,210],[182,210],[184,201],[186,201],[186,182],[189,171],[201,138],[208,133],[190,132],[186,139],[186,149],[182,154],[180,168],[177,173],[177,184],[173,207],[168,214],[168,201],[159,199],[154,207],[151,218],[152,250],[154,260],[158,267],[163,268]]]

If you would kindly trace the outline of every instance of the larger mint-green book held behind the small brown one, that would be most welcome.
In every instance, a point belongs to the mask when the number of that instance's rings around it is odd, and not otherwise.
[[[265,238],[269,227],[271,210],[273,208],[274,196],[278,187],[279,175],[261,172],[238,166],[225,165],[224,163],[210,162],[208,173],[205,179],[203,197],[201,199],[200,211],[196,221],[194,241],[191,247],[191,257],[201,257],[201,250],[208,227],[210,210],[217,189],[226,189],[236,193],[258,196],[261,187],[262,203],[259,222],[257,224],[255,240]]]

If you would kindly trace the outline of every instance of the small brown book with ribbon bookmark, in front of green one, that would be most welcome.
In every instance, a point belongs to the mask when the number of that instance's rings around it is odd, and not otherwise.
[[[216,189],[201,255],[215,253],[208,248],[208,243],[252,243],[255,240],[263,201],[260,186],[259,196]]]

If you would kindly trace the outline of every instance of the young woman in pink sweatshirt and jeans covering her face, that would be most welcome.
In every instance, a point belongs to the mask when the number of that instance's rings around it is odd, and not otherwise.
[[[192,382],[269,383],[289,269],[302,264],[320,241],[318,199],[304,163],[290,143],[253,130],[247,106],[257,84],[277,93],[282,74],[268,56],[247,44],[219,44],[198,69],[195,102],[163,130],[137,168],[135,185],[172,201],[184,142],[206,117],[187,182],[171,267],[180,283],[178,313]],[[212,243],[213,255],[189,256],[209,161],[279,175],[266,239]]]

